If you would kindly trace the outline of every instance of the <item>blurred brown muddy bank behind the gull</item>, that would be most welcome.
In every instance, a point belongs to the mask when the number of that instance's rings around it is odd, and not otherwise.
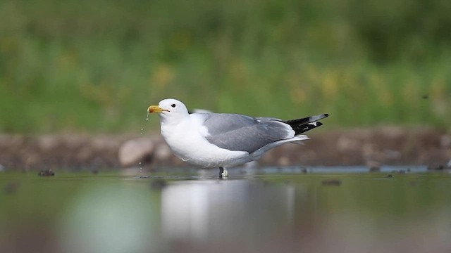
[[[316,132],[304,145],[285,144],[266,153],[259,165],[424,164],[451,159],[451,136],[434,129],[383,127]],[[184,166],[159,133],[140,135],[59,134],[0,136],[0,169],[111,169]],[[189,166],[189,165],[186,165]]]

